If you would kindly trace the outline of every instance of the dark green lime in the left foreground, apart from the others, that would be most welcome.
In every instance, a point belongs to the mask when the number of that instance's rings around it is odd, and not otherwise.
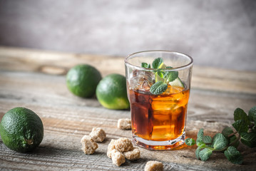
[[[43,140],[43,123],[32,110],[13,108],[1,120],[0,135],[11,150],[29,152]]]

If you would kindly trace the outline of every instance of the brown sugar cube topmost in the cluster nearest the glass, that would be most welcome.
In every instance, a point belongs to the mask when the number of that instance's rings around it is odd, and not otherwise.
[[[133,150],[133,143],[128,138],[119,138],[114,142],[116,150],[120,152],[127,152]]]

